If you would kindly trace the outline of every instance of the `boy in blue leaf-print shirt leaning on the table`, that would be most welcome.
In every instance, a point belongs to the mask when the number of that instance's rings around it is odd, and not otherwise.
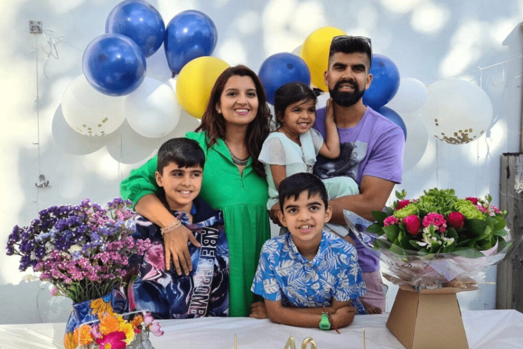
[[[279,219],[289,231],[261,249],[251,290],[265,302],[254,303],[251,317],[299,327],[348,326],[356,312],[365,314],[358,298],[366,288],[355,247],[323,230],[332,215],[325,186],[297,173],[280,183],[279,201]]]

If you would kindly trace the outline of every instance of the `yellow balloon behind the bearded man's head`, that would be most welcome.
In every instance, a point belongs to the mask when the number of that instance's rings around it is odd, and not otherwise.
[[[338,35],[347,35],[342,29],[323,27],[314,30],[301,47],[300,57],[309,66],[311,83],[327,92],[323,73],[328,67],[328,51],[331,48],[332,38]]]

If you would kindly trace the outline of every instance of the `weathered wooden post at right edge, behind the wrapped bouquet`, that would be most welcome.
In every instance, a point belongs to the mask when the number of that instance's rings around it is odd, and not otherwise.
[[[507,210],[507,226],[515,237],[523,234],[523,153],[501,157],[499,207]],[[496,309],[523,312],[523,244],[498,264],[496,285]]]

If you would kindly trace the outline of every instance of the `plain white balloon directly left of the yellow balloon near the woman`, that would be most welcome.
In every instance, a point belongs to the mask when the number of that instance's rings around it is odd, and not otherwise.
[[[173,88],[151,77],[126,96],[127,121],[144,137],[159,138],[174,130],[180,109]]]

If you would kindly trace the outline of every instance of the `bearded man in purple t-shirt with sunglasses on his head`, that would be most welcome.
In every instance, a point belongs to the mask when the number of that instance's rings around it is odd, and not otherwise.
[[[371,212],[381,211],[394,184],[401,183],[405,144],[403,131],[362,102],[363,93],[372,82],[372,74],[369,73],[371,57],[370,39],[335,37],[325,71],[325,84],[334,102],[334,121],[338,128],[341,154],[335,160],[319,156],[314,174],[320,178],[349,176],[360,188],[359,195],[329,201],[333,208],[331,222],[338,224],[345,224],[344,209],[374,221]],[[325,138],[325,109],[317,110],[313,128]],[[349,235],[347,241],[351,240]],[[361,300],[383,310],[385,296],[379,259],[358,239],[354,237],[354,240],[367,284],[367,295]]]

